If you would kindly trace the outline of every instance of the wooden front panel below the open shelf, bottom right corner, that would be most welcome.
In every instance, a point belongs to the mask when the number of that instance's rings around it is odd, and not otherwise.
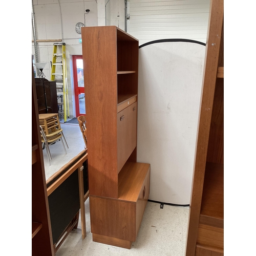
[[[197,242],[202,245],[224,248],[223,228],[199,224]]]

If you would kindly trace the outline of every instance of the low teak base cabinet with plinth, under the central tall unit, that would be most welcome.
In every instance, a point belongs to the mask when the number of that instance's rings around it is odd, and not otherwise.
[[[150,194],[150,164],[126,162],[118,198],[90,196],[93,241],[130,249]]]

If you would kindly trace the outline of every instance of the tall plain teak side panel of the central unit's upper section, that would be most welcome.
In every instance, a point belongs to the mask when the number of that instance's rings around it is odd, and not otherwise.
[[[82,28],[90,194],[118,197],[116,27]]]

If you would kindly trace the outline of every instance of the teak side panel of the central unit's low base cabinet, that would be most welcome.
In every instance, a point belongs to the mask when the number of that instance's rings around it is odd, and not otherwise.
[[[136,240],[136,203],[90,196],[91,232]]]

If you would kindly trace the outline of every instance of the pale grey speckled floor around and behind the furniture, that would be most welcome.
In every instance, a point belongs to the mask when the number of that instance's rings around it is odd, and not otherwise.
[[[43,150],[46,179],[84,149],[78,124],[62,121],[61,128],[69,145],[67,155],[60,141],[50,145],[53,159],[49,165],[46,152]],[[85,202],[87,237],[82,240],[79,219],[78,228],[71,231],[56,252],[56,256],[185,255],[188,207],[164,205],[161,209],[159,203],[147,202],[137,240],[133,242],[131,249],[124,249],[92,241],[89,200],[90,198]]]

